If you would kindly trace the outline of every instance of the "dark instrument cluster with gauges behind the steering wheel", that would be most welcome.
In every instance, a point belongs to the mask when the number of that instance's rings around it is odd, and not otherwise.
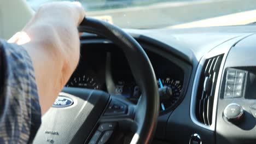
[[[141,96],[140,88],[136,85],[124,53],[116,45],[110,42],[82,44],[80,53],[78,67],[66,87],[100,89],[137,103]],[[171,97],[163,96],[160,110],[173,109],[182,99],[184,71],[157,53],[149,50],[146,53],[152,62],[159,91],[169,88],[171,94]]]

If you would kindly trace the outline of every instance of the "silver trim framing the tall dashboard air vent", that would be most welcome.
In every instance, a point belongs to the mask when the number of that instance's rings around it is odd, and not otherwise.
[[[246,35],[243,35],[242,37],[236,37],[231,40],[228,40],[225,43],[214,47],[214,49],[212,49],[210,52],[206,53],[206,55],[201,58],[199,65],[197,66],[197,69],[196,69],[195,79],[193,82],[193,89],[192,89],[192,93],[191,93],[191,100],[190,100],[190,118],[196,125],[198,125],[202,128],[211,130],[211,131],[214,131],[216,129],[216,115],[217,115],[217,103],[218,103],[218,98],[219,98],[220,81],[221,81],[222,75],[224,73],[223,69],[224,69],[226,57],[228,56],[228,52],[230,51],[232,46],[234,46],[236,43],[238,43],[238,41],[248,37],[249,35],[252,35],[252,34],[246,34]],[[202,73],[202,67],[203,67],[203,64],[205,63],[206,59],[212,58],[214,56],[222,55],[222,54],[224,54],[224,56],[222,59],[222,63],[220,64],[218,77],[216,77],[217,83],[216,83],[216,89],[214,92],[214,100],[213,100],[212,125],[208,126],[208,125],[205,125],[205,124],[199,122],[195,116],[196,91],[197,91],[197,88],[199,85],[198,80],[200,79],[200,75]]]

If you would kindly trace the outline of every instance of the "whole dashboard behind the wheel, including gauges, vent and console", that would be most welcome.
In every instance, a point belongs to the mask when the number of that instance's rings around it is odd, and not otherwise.
[[[255,143],[256,26],[124,29],[146,51],[161,97],[153,143]],[[85,33],[67,87],[137,103],[139,87],[112,41]]]

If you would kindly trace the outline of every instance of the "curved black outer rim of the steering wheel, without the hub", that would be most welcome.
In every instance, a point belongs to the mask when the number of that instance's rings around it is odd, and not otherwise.
[[[102,35],[124,52],[136,83],[142,91],[141,103],[137,105],[141,111],[135,118],[138,122],[137,136],[133,139],[136,143],[149,143],[158,120],[159,94],[154,69],[146,52],[131,35],[108,22],[86,17],[80,24],[79,31]]]

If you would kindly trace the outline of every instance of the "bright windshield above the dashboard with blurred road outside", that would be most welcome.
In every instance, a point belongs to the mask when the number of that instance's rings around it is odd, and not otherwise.
[[[27,0],[37,10],[56,0]],[[59,0],[60,1],[60,0]],[[190,28],[256,21],[255,0],[80,0],[86,16],[121,28]]]

